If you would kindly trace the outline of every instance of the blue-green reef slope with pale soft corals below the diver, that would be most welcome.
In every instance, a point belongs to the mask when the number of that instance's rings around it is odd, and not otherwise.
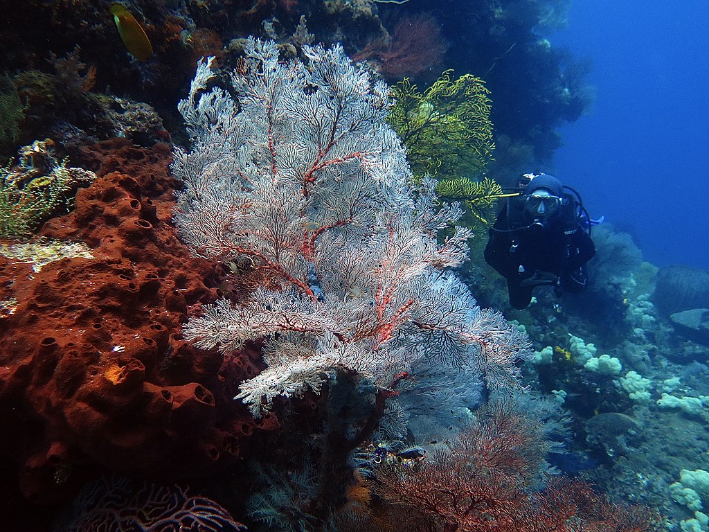
[[[613,319],[623,321],[623,335],[599,327],[598,316],[580,319],[563,299],[541,299],[518,314],[539,346],[525,382],[557,401],[574,428],[549,462],[591,480],[615,501],[659,509],[668,530],[700,530],[702,511],[677,501],[671,484],[682,470],[709,470],[708,352],[676,334],[654,309],[649,292],[657,270],[637,264],[634,246],[612,232],[601,242],[599,253],[616,253],[618,265],[601,257],[599,271],[615,277],[624,304],[617,313],[605,304],[598,314],[613,311]],[[682,294],[678,290],[679,299]]]

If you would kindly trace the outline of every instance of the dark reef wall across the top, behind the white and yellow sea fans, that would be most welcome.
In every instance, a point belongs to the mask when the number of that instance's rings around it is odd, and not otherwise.
[[[566,0],[532,2],[525,9],[513,0],[434,6],[372,0],[140,0],[124,7],[152,43],[147,61],[135,60],[125,49],[110,7],[109,1],[46,6],[29,0],[9,10],[0,23],[7,50],[0,70],[20,96],[11,107],[17,111],[18,102],[29,105],[23,116],[13,111],[7,123],[20,143],[51,135],[59,142],[62,123],[93,138],[89,143],[110,138],[111,128],[91,91],[150,104],[169,132],[179,135],[174,105],[194,74],[195,60],[216,55],[235,65],[240,47],[232,43],[247,35],[273,38],[299,54],[305,42],[298,31],[303,18],[313,42],[342,43],[350,55],[378,56],[381,72],[392,81],[415,75],[429,84],[437,62],[486,79],[496,100],[496,135],[510,138],[515,150],[533,150],[537,163],[558,146],[554,128],[574,121],[590,101],[584,65],[543,38],[563,23]],[[56,123],[45,123],[51,121]],[[0,145],[0,155],[8,157],[14,148],[12,142]],[[506,161],[501,155],[496,167]]]

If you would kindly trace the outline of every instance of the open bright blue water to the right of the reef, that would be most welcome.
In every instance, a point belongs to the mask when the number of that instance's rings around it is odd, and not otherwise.
[[[552,36],[590,57],[591,113],[562,129],[557,174],[655,265],[709,269],[709,3],[575,0]]]

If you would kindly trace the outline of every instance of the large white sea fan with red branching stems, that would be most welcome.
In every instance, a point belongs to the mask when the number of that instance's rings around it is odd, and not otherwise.
[[[223,352],[267,338],[268,367],[242,382],[253,414],[277,395],[316,392],[344,367],[384,383],[428,358],[513,386],[527,339],[482,311],[446,269],[467,258],[460,207],[437,207],[435,182],[413,187],[401,141],[386,124],[389,89],[340,46],[278,60],[249,40],[233,73],[236,99],[201,61],[179,104],[193,141],[174,153],[184,183],[174,213],[196,255],[247,260],[280,289],[221,299],[190,318],[186,338]]]

